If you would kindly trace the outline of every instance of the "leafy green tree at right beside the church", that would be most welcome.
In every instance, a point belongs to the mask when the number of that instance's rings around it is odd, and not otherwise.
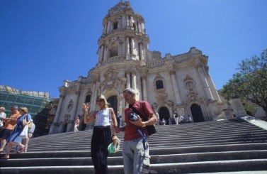
[[[232,79],[223,86],[225,99],[240,98],[262,107],[267,115],[267,49],[261,57],[242,60]]]

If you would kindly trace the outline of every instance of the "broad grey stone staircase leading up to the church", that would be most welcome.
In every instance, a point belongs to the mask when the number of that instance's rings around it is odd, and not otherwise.
[[[32,138],[28,153],[11,153],[9,160],[1,160],[0,172],[93,173],[91,134],[89,130]],[[123,133],[118,137],[122,149]],[[157,173],[267,173],[267,131],[246,121],[157,126],[149,149],[151,169]],[[108,170],[123,173],[121,151],[108,157]]]

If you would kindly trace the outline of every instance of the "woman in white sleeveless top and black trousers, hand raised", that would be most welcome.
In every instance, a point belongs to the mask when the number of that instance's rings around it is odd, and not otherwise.
[[[99,110],[90,116],[88,115],[89,105],[84,104],[84,123],[96,121],[91,138],[91,158],[96,174],[108,173],[108,145],[116,139],[115,135],[111,136],[110,117],[113,121],[113,132],[117,132],[118,124],[114,110],[108,107],[105,96],[99,95],[96,104]]]

